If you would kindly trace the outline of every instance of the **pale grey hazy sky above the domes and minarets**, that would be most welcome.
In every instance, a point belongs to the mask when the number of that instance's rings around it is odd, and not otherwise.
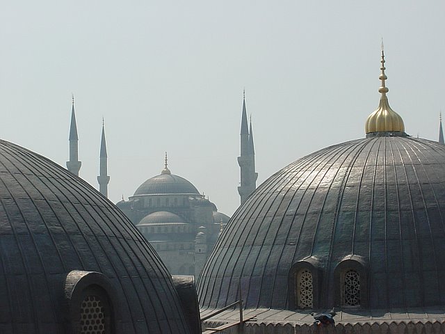
[[[97,188],[102,116],[109,198],[163,168],[231,215],[239,205],[243,88],[258,184],[327,145],[364,137],[389,103],[437,140],[445,1],[2,1],[0,138],[65,167],[71,94],[80,175]]]

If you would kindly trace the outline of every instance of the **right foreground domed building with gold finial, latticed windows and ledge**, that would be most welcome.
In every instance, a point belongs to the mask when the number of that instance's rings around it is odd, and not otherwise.
[[[313,333],[332,308],[335,333],[445,332],[442,122],[439,142],[408,135],[383,50],[380,70],[365,138],[285,166],[233,214],[197,280],[202,317],[242,298],[244,333]]]

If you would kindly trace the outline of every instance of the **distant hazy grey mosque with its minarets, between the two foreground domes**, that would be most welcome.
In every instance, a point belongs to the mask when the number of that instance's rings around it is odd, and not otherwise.
[[[79,176],[78,136],[74,97],[70,125],[70,160],[67,169]],[[108,197],[107,152],[105,129],[102,124],[100,145],[99,191]],[[241,185],[238,192],[243,202],[256,188],[252,120],[248,126],[243,93],[241,114],[241,154],[238,157]],[[170,273],[198,276],[204,262],[216,244],[229,216],[218,212],[216,205],[204,197],[184,177],[172,174],[168,168],[167,154],[161,174],[149,178],[128,200],[116,205],[152,244]]]

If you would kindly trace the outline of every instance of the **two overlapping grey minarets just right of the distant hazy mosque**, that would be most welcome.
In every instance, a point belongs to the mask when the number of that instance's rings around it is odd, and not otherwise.
[[[241,115],[241,154],[238,157],[238,165],[241,169],[241,182],[238,193],[241,204],[248,198],[250,193],[257,188],[257,177],[255,173],[255,155],[252,134],[252,122],[250,122],[250,134],[248,128],[248,115],[245,109],[245,91],[243,91],[243,113]]]

